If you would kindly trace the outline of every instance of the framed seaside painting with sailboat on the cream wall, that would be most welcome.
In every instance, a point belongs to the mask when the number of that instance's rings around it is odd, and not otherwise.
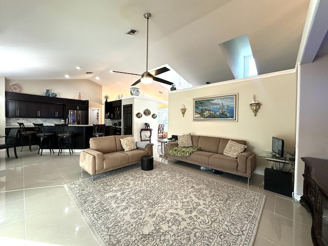
[[[238,93],[193,98],[193,120],[237,121]]]

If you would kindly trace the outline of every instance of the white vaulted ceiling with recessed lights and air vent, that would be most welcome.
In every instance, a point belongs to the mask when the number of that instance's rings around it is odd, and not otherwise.
[[[69,74],[70,79],[87,78],[128,94],[139,76],[109,70],[146,70],[146,12],[152,14],[149,70],[168,64],[193,86],[234,79],[219,44],[243,34],[249,37],[259,74],[292,69],[309,3],[0,0],[0,76],[66,79]],[[129,28],[140,32],[128,36]],[[154,98],[167,97],[168,88],[157,82],[140,88]]]

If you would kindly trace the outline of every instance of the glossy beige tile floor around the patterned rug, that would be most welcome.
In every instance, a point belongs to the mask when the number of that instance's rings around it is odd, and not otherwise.
[[[79,153],[43,156],[24,148],[18,159],[0,152],[0,245],[98,245],[63,185],[81,177]],[[13,151],[10,152],[14,156]],[[247,179],[231,174],[216,175],[184,162],[155,159],[267,195],[255,246],[312,246],[311,214],[299,202],[263,189],[263,176]]]

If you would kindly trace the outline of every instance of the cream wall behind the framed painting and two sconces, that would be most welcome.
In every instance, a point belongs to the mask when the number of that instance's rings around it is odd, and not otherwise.
[[[219,136],[247,140],[249,149],[259,154],[271,151],[272,136],[284,139],[285,149],[295,151],[296,73],[288,70],[249,79],[237,79],[169,93],[169,133]],[[238,121],[193,121],[193,98],[238,93]],[[262,104],[255,117],[251,97]],[[181,105],[187,112],[181,115]],[[271,163],[257,157],[256,173],[263,174]]]

